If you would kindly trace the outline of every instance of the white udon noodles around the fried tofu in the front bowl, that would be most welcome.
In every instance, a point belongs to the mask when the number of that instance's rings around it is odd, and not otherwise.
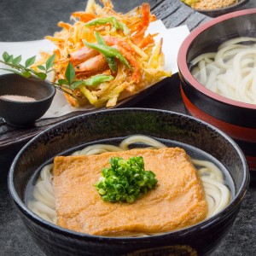
[[[119,146],[108,144],[95,144],[82,150],[74,152],[72,155],[90,155],[102,154],[104,152],[117,152],[129,150],[133,143],[143,143],[148,148],[166,148],[166,145],[154,140],[151,137],[136,135],[125,138]],[[208,203],[207,218],[217,214],[230,202],[230,190],[224,185],[223,173],[217,166],[207,160],[191,160],[198,170],[201,182],[205,189],[206,200]],[[28,207],[32,212],[38,214],[41,218],[56,224],[55,195],[52,184],[53,164],[44,166],[38,177],[38,181],[33,190],[33,201],[28,202]]]

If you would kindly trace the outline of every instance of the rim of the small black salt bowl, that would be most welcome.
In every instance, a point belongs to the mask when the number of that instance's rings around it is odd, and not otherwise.
[[[16,74],[16,73],[4,73],[0,76],[1,77],[12,77],[12,76],[15,76],[15,77],[20,77],[21,79],[23,78],[22,76],[20,76],[19,74]],[[47,97],[44,97],[43,99],[41,100],[36,100],[35,102],[20,102],[20,101],[12,101],[12,100],[9,100],[9,99],[5,99],[3,97],[0,96],[0,100],[3,101],[3,102],[13,102],[14,104],[22,104],[22,105],[32,105],[32,104],[36,104],[36,103],[39,103],[39,102],[46,102],[48,101],[49,99],[51,99],[52,97],[55,96],[55,92],[56,92],[56,88],[54,85],[50,84],[50,82],[48,80],[40,80],[38,79],[37,77],[35,76],[32,76],[31,77],[32,79],[37,79],[38,82],[41,82],[43,84],[45,84],[49,89],[49,96]],[[31,79],[29,78],[29,79]],[[23,79],[26,79],[26,78],[23,78]]]

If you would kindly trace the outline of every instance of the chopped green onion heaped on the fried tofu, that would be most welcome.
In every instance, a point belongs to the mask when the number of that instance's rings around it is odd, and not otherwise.
[[[102,177],[95,185],[103,201],[133,203],[158,182],[154,172],[145,171],[142,156],[129,160],[114,157],[109,163],[111,166],[102,169]]]

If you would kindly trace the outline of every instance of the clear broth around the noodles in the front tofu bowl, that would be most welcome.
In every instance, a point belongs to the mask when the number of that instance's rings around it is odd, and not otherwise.
[[[83,150],[84,148],[86,148],[88,146],[93,146],[96,144],[119,146],[119,143],[121,143],[124,139],[125,139],[125,137],[119,137],[119,138],[111,139],[111,140],[107,139],[107,140],[97,141],[95,143],[87,143],[82,146],[79,146],[78,148],[69,149],[61,155],[78,154],[78,152],[80,150]],[[183,148],[187,152],[187,154],[189,154],[191,159],[193,159],[193,160],[195,160],[195,159],[196,160],[205,160],[205,161],[209,161],[212,164],[214,164],[215,166],[217,166],[218,169],[220,169],[221,172],[224,174],[224,185],[226,185],[230,189],[231,199],[234,198],[236,191],[235,191],[235,185],[233,183],[233,180],[230,177],[230,173],[228,172],[228,170],[226,170],[226,168],[218,160],[213,158],[212,155],[207,154],[206,152],[203,152],[201,149],[189,146],[188,144],[177,143],[172,140],[166,140],[166,139],[163,140],[163,139],[159,139],[159,138],[155,138],[155,140],[157,140],[159,143],[163,143],[167,147]],[[145,143],[131,143],[131,145],[129,145],[129,149],[131,149],[131,148],[147,148],[147,147],[148,147],[148,145],[145,145]],[[49,162],[47,164],[52,163],[52,162],[53,162],[53,160],[49,160]],[[25,194],[26,195],[25,196],[26,205],[32,209],[32,212],[35,212],[35,213],[37,213],[37,212],[33,210],[33,208],[31,207],[30,204],[32,201],[35,200],[33,195],[34,195],[35,185],[36,185],[36,183],[38,183],[38,177],[40,176],[41,170],[42,170],[42,168],[40,167],[38,169],[38,171],[35,172],[35,174],[32,176],[32,178],[30,179],[30,181],[26,187],[26,194]],[[39,215],[39,216],[41,216],[41,215]],[[41,217],[44,218],[44,216],[41,216]],[[211,216],[208,216],[208,217],[211,217]],[[45,219],[47,219],[47,218],[45,218]],[[47,219],[47,220],[49,220],[49,219]],[[55,223],[55,221],[51,221],[51,219],[49,221]]]

